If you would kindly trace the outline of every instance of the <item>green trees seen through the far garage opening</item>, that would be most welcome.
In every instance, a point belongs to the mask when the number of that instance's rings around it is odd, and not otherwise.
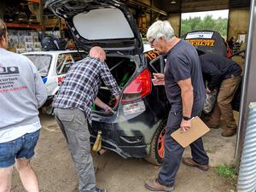
[[[212,18],[212,15],[207,15],[204,19],[201,19],[201,17],[189,17],[189,19],[182,20],[181,37],[185,33],[195,30],[213,30],[219,32],[223,38],[226,38],[227,27],[228,19],[221,17],[218,17],[216,20]]]

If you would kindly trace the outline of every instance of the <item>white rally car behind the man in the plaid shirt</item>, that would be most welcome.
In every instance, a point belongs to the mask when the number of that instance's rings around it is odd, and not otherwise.
[[[58,50],[58,51],[37,51],[27,52],[26,55],[38,68],[38,72],[46,86],[48,99],[44,103],[44,112],[51,113],[51,102],[59,90],[69,67],[75,62],[83,59],[84,51]]]

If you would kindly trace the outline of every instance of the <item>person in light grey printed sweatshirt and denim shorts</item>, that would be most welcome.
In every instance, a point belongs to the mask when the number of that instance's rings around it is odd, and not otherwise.
[[[38,143],[38,108],[46,101],[46,87],[32,61],[7,47],[7,28],[0,20],[0,192],[11,190],[14,165],[26,191],[38,192],[30,161]]]

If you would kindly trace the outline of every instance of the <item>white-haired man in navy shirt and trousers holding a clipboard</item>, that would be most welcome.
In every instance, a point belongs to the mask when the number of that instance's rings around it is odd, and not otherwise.
[[[205,101],[201,64],[195,48],[175,37],[169,21],[158,20],[148,28],[149,44],[160,54],[167,54],[165,73],[154,73],[155,79],[165,79],[166,96],[171,104],[166,134],[165,160],[156,179],[148,180],[145,187],[153,191],[174,190],[175,177],[182,160],[184,148],[177,143],[171,134],[181,127],[189,131],[191,119],[201,114]],[[202,139],[190,144],[192,158],[184,158],[187,166],[195,166],[203,171],[208,170],[206,151]]]

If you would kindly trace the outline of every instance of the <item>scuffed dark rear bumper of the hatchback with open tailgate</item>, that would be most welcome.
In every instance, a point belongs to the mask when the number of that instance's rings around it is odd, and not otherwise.
[[[148,113],[118,123],[92,121],[90,142],[96,140],[97,131],[102,131],[102,148],[127,157],[144,158],[148,155],[151,139],[157,128],[157,121],[148,119]],[[142,120],[143,119],[143,120]],[[153,118],[154,119],[154,118]]]

